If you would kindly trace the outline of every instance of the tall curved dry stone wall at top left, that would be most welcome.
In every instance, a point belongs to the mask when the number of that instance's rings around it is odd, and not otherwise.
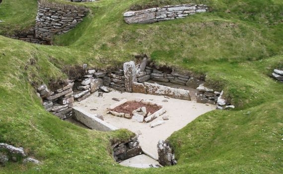
[[[39,0],[36,37],[50,41],[55,34],[67,33],[83,20],[86,13],[85,7]]]

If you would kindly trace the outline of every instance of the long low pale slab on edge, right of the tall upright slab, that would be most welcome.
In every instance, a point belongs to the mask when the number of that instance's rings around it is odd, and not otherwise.
[[[164,95],[176,99],[191,100],[190,91],[184,89],[176,89],[153,83],[144,82],[146,91],[152,95]]]

